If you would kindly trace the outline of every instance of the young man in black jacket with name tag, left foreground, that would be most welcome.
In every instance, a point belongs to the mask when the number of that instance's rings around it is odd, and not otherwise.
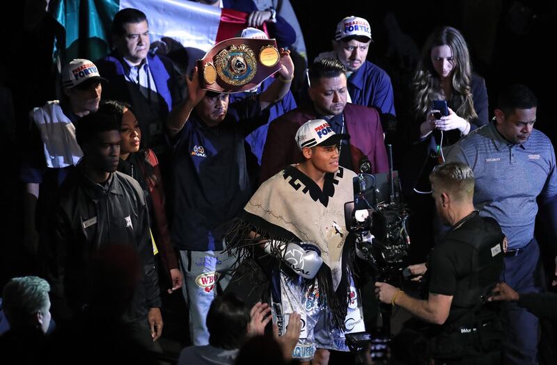
[[[128,283],[134,286],[133,298],[119,319],[139,346],[157,351],[154,341],[161,336],[163,323],[148,209],[139,183],[116,171],[119,129],[116,120],[102,113],[87,115],[78,124],[77,143],[84,156],[61,187],[58,200],[53,291],[63,295],[72,314],[79,314],[97,300],[84,284],[95,254],[109,245],[130,246],[140,265],[138,272],[126,273],[131,278]],[[115,311],[117,305],[114,303]]]

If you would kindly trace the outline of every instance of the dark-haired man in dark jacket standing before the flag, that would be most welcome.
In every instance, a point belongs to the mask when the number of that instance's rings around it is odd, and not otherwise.
[[[143,147],[161,154],[166,117],[182,100],[178,73],[171,60],[149,52],[149,24],[140,10],[126,8],[116,13],[112,36],[114,50],[96,62],[110,81],[104,97],[132,105]]]

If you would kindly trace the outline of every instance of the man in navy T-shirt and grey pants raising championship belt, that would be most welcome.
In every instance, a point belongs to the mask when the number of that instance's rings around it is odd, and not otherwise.
[[[267,107],[290,90],[294,65],[288,51],[281,53],[281,64],[267,90],[230,107],[227,94],[199,88],[195,68],[187,80],[187,99],[168,115],[166,127],[174,149],[172,241],[182,258],[182,290],[196,346],[208,343],[205,318],[217,292],[214,286],[233,262],[221,253],[223,224],[235,218],[251,197],[244,139],[268,121]]]

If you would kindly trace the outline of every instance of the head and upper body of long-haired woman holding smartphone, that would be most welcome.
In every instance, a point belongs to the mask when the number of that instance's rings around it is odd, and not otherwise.
[[[466,41],[457,29],[444,26],[425,41],[414,74],[414,115],[420,140],[437,129],[444,131],[443,145],[488,122],[485,81],[471,71]],[[434,100],[445,100],[448,115],[436,115]]]

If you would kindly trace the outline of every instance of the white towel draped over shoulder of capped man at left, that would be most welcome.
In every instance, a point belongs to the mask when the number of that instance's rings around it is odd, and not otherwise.
[[[83,156],[75,139],[75,127],[66,117],[58,100],[34,108],[33,120],[40,131],[48,168],[77,165]]]

